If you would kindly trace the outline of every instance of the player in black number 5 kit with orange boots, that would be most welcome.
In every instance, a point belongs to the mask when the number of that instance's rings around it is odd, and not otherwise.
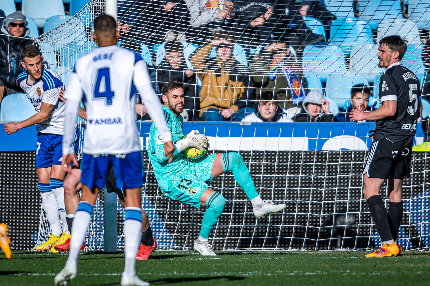
[[[402,251],[395,243],[403,214],[402,180],[410,174],[412,141],[421,114],[418,79],[400,63],[406,48],[406,42],[397,35],[379,41],[379,67],[386,69],[379,87],[381,107],[369,112],[353,109],[350,113],[350,118],[356,121],[376,120],[363,170],[363,194],[381,236],[382,247],[366,257],[393,256]],[[379,195],[385,179],[388,179],[388,213]]]

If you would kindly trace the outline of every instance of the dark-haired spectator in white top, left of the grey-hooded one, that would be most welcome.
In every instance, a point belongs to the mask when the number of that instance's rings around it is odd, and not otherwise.
[[[278,97],[272,91],[260,94],[260,100],[255,104],[255,111],[246,115],[243,122],[293,122],[283,109],[277,105]]]

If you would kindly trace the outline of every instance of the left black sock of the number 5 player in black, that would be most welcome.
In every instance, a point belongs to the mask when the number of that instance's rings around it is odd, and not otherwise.
[[[367,199],[367,203],[369,204],[370,214],[372,215],[373,222],[375,223],[382,241],[393,239],[390,225],[388,224],[387,209],[384,206],[384,202],[382,202],[381,196],[371,196]]]

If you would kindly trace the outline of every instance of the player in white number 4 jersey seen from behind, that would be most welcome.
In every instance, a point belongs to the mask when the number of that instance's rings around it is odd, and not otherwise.
[[[143,184],[139,135],[135,123],[135,86],[151,118],[160,128],[165,142],[165,155],[170,162],[175,147],[146,63],[139,54],[117,46],[119,33],[115,19],[109,15],[98,16],[94,21],[93,37],[98,48],[77,61],[64,96],[67,100],[64,169],[72,161],[76,163],[71,143],[82,94],[86,101],[87,126],[82,158],[82,197],[72,226],[69,258],[63,270],[55,276],[55,284],[66,285],[76,275],[77,256],[92,209],[100,189],[104,187],[108,169],[113,166],[117,187],[125,190],[125,267],[121,285],[149,285],[135,274],[135,256],[142,224]]]

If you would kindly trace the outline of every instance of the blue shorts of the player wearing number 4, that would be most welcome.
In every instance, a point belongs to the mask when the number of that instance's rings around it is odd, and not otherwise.
[[[114,167],[119,189],[132,189],[143,185],[144,173],[140,152],[120,155],[89,155],[84,153],[81,163],[81,183],[90,189],[95,186],[100,189],[104,188],[111,166]]]

